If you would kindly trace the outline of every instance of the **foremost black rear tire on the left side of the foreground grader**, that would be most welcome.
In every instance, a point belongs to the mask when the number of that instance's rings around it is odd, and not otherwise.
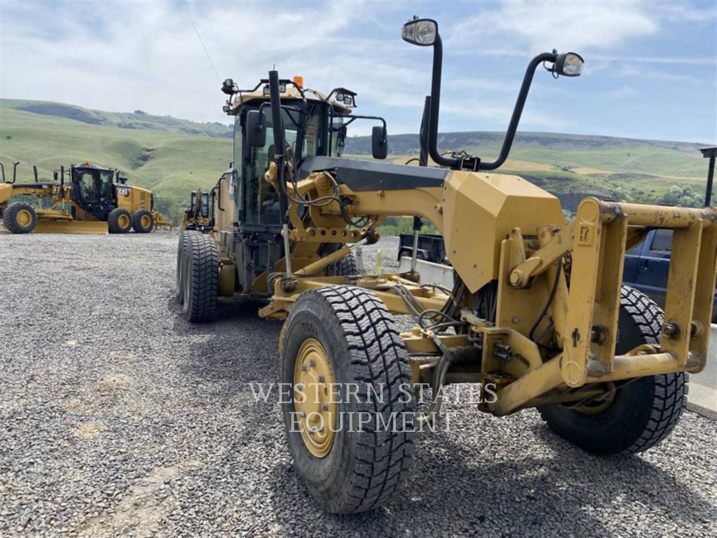
[[[219,295],[219,250],[214,237],[192,233],[184,245],[182,313],[191,323],[212,321]]]

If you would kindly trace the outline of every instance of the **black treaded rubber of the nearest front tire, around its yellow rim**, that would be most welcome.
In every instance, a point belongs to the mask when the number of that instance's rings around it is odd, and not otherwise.
[[[301,433],[292,428],[293,402],[282,405],[298,476],[325,511],[351,514],[381,506],[404,485],[414,449],[414,433],[402,431],[412,429],[415,412],[411,368],[391,313],[369,291],[331,285],[302,293],[284,329],[282,382],[293,384],[301,344],[308,338],[317,339],[331,361],[334,382],[342,387],[359,384],[357,398],[352,395],[350,402],[339,402],[337,411],[344,416],[369,412],[372,417],[360,429],[355,423],[353,428],[337,428],[340,431],[335,434],[331,450],[317,458],[306,448]],[[379,395],[379,385],[383,385],[382,403],[371,397],[369,384],[376,387]],[[407,427],[398,431],[377,428],[378,413],[384,423],[391,416],[406,416]]]

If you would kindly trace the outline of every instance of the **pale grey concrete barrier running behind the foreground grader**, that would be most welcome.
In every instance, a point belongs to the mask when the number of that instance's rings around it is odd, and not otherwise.
[[[403,273],[411,270],[411,258],[401,258],[399,270]],[[442,263],[417,260],[416,270],[422,283],[440,283],[453,288],[453,268]],[[700,415],[717,419],[717,325],[710,329],[710,346],[707,365],[699,374],[690,375],[690,392],[687,408]]]

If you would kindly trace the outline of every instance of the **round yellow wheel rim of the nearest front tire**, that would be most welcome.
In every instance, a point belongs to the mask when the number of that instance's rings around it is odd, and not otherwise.
[[[325,457],[333,446],[338,395],[332,395],[332,383],[326,350],[318,340],[306,339],[294,365],[294,384],[300,384],[305,396],[295,392],[294,407],[301,438],[317,458]]]

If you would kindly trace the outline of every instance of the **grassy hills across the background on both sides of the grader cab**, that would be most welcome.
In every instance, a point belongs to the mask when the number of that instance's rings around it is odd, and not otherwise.
[[[227,124],[229,119],[227,119]],[[464,148],[492,159],[503,133],[441,133],[442,151]],[[350,137],[346,154],[370,158],[370,138]],[[574,209],[587,194],[636,202],[696,204],[704,189],[703,145],[581,136],[519,133],[511,159],[500,171],[516,173]],[[418,153],[417,135],[389,136],[394,162]],[[209,188],[232,160],[231,129],[168,116],[112,113],[45,101],[0,99],[0,161],[21,179],[37,164],[43,179],[60,165],[85,159],[120,169],[130,184],[153,189],[163,204],[184,205],[189,191]],[[683,192],[685,187],[688,191]],[[691,192],[690,192],[691,189]],[[176,209],[176,208],[174,208]]]

